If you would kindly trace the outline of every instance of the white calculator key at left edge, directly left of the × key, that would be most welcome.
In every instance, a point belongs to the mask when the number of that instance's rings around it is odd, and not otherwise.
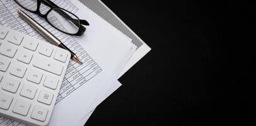
[[[0,52],[6,57],[13,58],[17,52],[17,48],[13,47],[13,45],[10,45],[8,43],[2,43],[0,47]]]

